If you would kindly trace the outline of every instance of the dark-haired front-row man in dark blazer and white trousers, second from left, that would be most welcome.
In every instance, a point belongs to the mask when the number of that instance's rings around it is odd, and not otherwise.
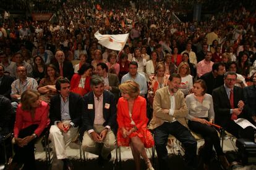
[[[51,99],[49,109],[49,139],[53,142],[55,158],[52,169],[59,169],[56,158],[62,160],[67,169],[72,169],[72,164],[67,159],[66,147],[77,135],[85,111],[84,102],[80,95],[70,92],[67,78],[58,79],[55,86],[59,94]]]

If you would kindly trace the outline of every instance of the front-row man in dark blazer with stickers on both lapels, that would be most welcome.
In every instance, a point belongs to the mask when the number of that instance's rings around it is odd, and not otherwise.
[[[85,113],[82,115],[83,136],[82,148],[86,152],[99,155],[98,163],[104,165],[110,160],[111,151],[115,147],[116,137],[116,103],[114,95],[104,90],[104,80],[100,76],[92,76],[90,81],[93,91],[88,92],[85,100]]]

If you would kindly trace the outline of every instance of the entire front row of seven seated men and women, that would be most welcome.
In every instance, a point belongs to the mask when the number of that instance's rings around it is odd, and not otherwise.
[[[84,97],[70,92],[68,79],[58,79],[58,94],[52,97],[50,107],[38,100],[37,92],[27,90],[21,96],[16,113],[14,161],[35,169],[32,148],[35,139],[48,127],[49,108],[49,139],[54,148],[52,169],[59,169],[60,162],[68,169],[72,167],[67,159],[66,148],[79,128],[83,150],[99,155],[98,161],[101,165],[111,158],[111,150],[114,149],[117,138],[117,145],[130,146],[136,169],[140,169],[140,155],[147,168],[153,169],[145,148],[154,144],[160,169],[166,169],[166,145],[169,134],[172,134],[184,145],[187,166],[196,169],[197,142],[190,133],[190,128],[205,139],[202,152],[205,155],[205,164],[209,162],[214,146],[221,164],[227,168],[228,161],[221,150],[220,139],[210,123],[220,124],[238,138],[254,140],[252,127],[242,129],[234,123],[234,119],[248,118],[243,91],[240,87],[234,87],[236,78],[236,73],[228,71],[224,75],[224,85],[213,91],[213,97],[205,94],[207,87],[204,81],[198,80],[194,83],[194,94],[187,95],[185,99],[184,94],[179,91],[181,76],[176,73],[169,76],[168,86],[158,89],[153,100],[153,118],[148,129],[155,132],[155,139],[147,129],[146,100],[139,95],[139,84],[134,81],[126,81],[119,86],[122,97],[117,108],[114,95],[104,90],[104,80],[100,76],[92,77],[90,85],[93,91]],[[188,126],[186,119],[189,119]]]

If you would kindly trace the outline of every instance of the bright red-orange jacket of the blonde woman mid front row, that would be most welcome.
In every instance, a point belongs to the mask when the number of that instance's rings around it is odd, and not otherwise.
[[[134,100],[132,119],[138,129],[147,127],[148,118],[146,105],[146,99],[140,95]],[[124,97],[119,98],[117,103],[117,123],[119,128],[133,127],[133,125],[130,124],[128,101],[124,99]]]

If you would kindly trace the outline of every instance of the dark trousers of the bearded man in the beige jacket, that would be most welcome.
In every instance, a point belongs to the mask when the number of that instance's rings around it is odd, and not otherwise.
[[[184,145],[187,165],[191,169],[196,169],[197,141],[187,127],[178,121],[174,121],[173,123],[165,122],[155,129],[155,146],[160,170],[171,169],[168,168],[168,151],[166,149],[169,134],[176,137]]]

